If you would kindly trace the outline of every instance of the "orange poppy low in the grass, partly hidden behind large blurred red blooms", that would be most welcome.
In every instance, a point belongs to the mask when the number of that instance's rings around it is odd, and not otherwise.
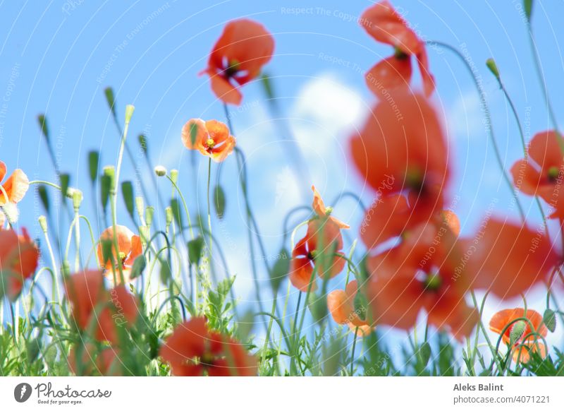
[[[357,281],[353,280],[347,284],[345,290],[330,292],[327,295],[327,307],[336,323],[347,324],[351,330],[358,327],[359,333],[357,335],[362,336],[371,333],[372,327],[362,319],[366,318],[367,313],[362,309],[355,308],[357,291]]]

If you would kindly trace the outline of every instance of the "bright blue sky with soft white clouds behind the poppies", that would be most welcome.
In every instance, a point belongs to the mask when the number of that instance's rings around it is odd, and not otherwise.
[[[564,88],[564,61],[559,48],[563,32],[555,16],[562,16],[564,4],[534,3],[539,53],[559,116],[564,108],[558,98]],[[274,78],[283,118],[271,118],[259,83],[245,86],[243,105],[231,112],[238,145],[247,155],[251,201],[268,254],[276,255],[281,246],[283,216],[296,205],[310,202],[302,193],[311,184],[329,204],[343,191],[361,193],[365,202],[372,201],[372,194],[362,191],[362,181],[348,162],[348,136],[362,125],[364,114],[374,103],[364,86],[363,72],[391,54],[390,47],[376,44],[357,24],[370,4],[52,0],[39,6],[33,1],[1,1],[0,98],[4,96],[5,109],[0,117],[0,159],[8,170],[24,169],[30,179],[55,181],[36,120],[37,114],[47,113],[61,169],[71,173],[71,186],[83,189],[89,198],[87,152],[100,150],[102,165],[116,162],[118,136],[103,93],[111,86],[120,119],[125,104],[136,107],[130,129],[135,153],[135,138],[145,131],[152,162],[179,169],[180,186],[192,214],[197,213],[198,205],[204,212],[207,162],[197,157],[196,168],[190,167],[180,129],[192,117],[224,119],[223,107],[211,93],[207,77],[198,73],[228,20],[254,18],[276,39],[276,55],[265,71]],[[505,168],[509,168],[522,156],[522,150],[509,107],[484,65],[487,58],[496,59],[517,112],[525,121],[527,136],[551,127],[532,64],[521,2],[436,0],[393,4],[424,40],[452,44],[472,61],[491,105]],[[434,100],[444,115],[453,150],[455,178],[450,194],[458,198],[453,208],[462,221],[462,232],[472,232],[494,199],[494,213],[517,215],[484,131],[472,79],[450,52],[429,49],[429,59],[438,85]],[[285,156],[284,145],[289,143],[281,141],[277,128],[285,123],[309,165],[311,181],[296,179],[292,172],[293,163]],[[241,258],[247,246],[235,158],[230,157],[223,167],[228,209],[221,227],[228,234],[222,237],[231,244],[225,251],[231,270],[238,274],[238,292],[243,300],[250,300],[249,261]],[[143,168],[142,178],[150,186],[148,173]],[[123,178],[134,179],[134,175],[125,158]],[[198,189],[194,189],[195,181]],[[168,196],[170,186],[164,179],[159,180],[159,186],[162,195]],[[539,213],[532,202],[525,197],[521,200],[528,217],[538,221]],[[33,196],[20,204],[20,211],[20,225],[42,237],[36,221],[43,211]],[[90,200],[85,201],[83,212],[96,220]],[[343,200],[336,205],[335,214],[353,225],[350,237],[355,237],[362,219],[360,209],[350,199]],[[125,213],[122,215],[123,223],[130,225]],[[214,226],[219,226],[216,220]],[[266,280],[262,286],[267,286]],[[489,308],[494,311],[499,306],[493,303]]]

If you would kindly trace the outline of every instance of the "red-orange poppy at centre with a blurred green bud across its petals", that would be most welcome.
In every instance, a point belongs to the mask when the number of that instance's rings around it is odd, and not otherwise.
[[[321,278],[324,275],[333,278],[341,273],[346,263],[342,248],[343,237],[335,222],[328,218],[310,220],[305,237],[295,244],[292,251],[289,274],[292,285],[307,292],[314,269]],[[315,289],[315,282],[312,282],[311,290]]]

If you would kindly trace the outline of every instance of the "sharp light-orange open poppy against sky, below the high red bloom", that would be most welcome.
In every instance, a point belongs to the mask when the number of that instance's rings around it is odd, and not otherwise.
[[[182,128],[182,142],[185,148],[198,150],[215,162],[225,160],[235,148],[235,137],[216,120],[190,119]]]

